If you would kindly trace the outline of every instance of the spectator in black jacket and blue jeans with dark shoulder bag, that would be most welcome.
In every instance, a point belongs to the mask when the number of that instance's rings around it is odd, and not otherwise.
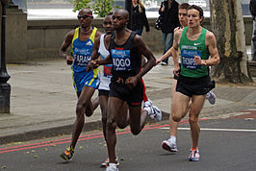
[[[179,4],[175,0],[165,0],[162,2],[159,14],[163,15],[162,41],[165,48],[163,54],[166,54],[166,51],[172,46],[173,31],[180,25],[178,13]],[[168,64],[168,59],[166,58],[161,64]]]

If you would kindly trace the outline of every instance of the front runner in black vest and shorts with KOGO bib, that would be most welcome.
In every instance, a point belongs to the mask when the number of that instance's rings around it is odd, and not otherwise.
[[[132,134],[140,134],[147,115],[154,114],[154,110],[149,107],[141,110],[143,92],[141,77],[153,67],[155,58],[141,37],[126,28],[129,12],[124,9],[117,9],[112,18],[115,34],[106,37],[106,41],[110,42],[111,54],[104,60],[90,62],[91,66],[113,63],[107,120],[107,146],[110,163],[106,170],[117,170],[115,164],[115,128],[117,119],[123,117],[121,113],[123,104],[127,103],[128,105]],[[142,69],[141,55],[147,59]],[[91,66],[88,68],[90,69]],[[157,117],[162,117],[162,115]]]

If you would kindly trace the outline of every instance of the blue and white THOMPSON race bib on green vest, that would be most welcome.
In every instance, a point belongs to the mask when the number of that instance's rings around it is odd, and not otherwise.
[[[182,52],[182,65],[188,69],[200,69],[201,65],[196,64],[193,59],[194,56],[202,57],[200,51],[192,51],[183,49]]]

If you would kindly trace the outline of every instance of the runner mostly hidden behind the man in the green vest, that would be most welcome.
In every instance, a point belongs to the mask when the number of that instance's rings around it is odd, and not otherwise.
[[[176,28],[174,30],[174,33],[177,32],[180,29],[183,29],[184,27],[188,26],[188,11],[187,9],[190,7],[188,3],[183,3],[179,6],[179,21],[182,27]],[[165,55],[163,55],[161,58],[159,58],[156,63],[160,63],[164,59],[171,56],[173,51],[173,47],[171,47]],[[180,65],[180,59],[179,59],[179,65]],[[171,87],[171,101],[173,100],[174,93],[176,91],[176,85],[177,85],[178,77],[174,74],[174,80],[172,81],[172,87]],[[211,90],[207,93],[206,99],[209,101],[210,104],[214,105],[216,102],[216,95]],[[169,134],[170,137],[167,140],[164,140],[162,142],[162,148],[169,152],[177,152],[177,145],[176,145],[176,137],[177,137],[177,127],[178,122],[174,122],[172,119],[172,116],[169,115]]]

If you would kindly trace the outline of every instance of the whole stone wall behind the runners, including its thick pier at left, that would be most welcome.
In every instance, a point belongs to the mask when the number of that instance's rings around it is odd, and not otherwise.
[[[7,9],[6,61],[20,62],[42,59],[57,59],[59,49],[68,31],[78,25],[73,20],[27,20],[27,14],[18,9]],[[250,44],[252,21],[244,17],[246,45]],[[149,19],[150,33],[143,32],[142,38],[155,53],[163,51],[162,32],[154,29],[155,18]],[[102,31],[102,19],[93,19],[92,25]],[[210,29],[206,18],[203,26]]]

